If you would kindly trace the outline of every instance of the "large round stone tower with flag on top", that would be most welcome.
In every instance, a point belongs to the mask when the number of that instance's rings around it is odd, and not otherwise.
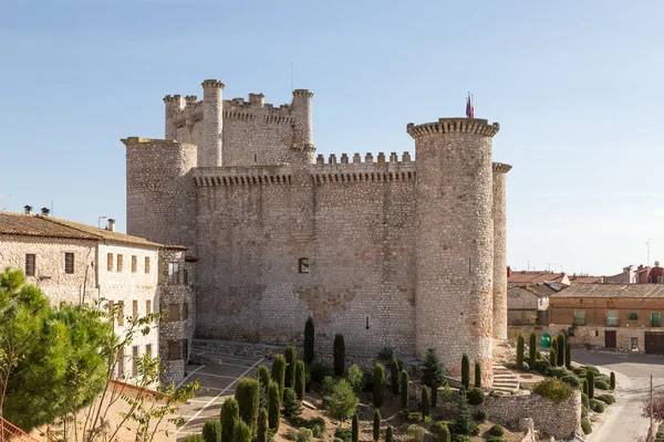
[[[480,362],[490,386],[494,230],[491,138],[486,119],[408,124],[416,154],[416,354],[440,355],[459,375]]]

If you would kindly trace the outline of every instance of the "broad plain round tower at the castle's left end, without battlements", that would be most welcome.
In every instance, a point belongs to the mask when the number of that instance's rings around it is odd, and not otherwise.
[[[196,245],[196,146],[131,137],[127,149],[127,233],[168,245]]]

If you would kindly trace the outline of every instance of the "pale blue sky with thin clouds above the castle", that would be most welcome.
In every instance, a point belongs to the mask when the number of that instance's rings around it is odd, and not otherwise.
[[[508,261],[618,273],[664,261],[661,1],[6,0],[0,209],[124,229],[120,138],[166,94],[314,92],[319,154],[413,151],[409,122],[500,122]],[[549,264],[550,263],[550,264]]]

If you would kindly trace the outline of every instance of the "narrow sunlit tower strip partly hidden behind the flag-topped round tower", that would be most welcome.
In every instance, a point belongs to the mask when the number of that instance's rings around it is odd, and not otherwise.
[[[511,166],[494,162],[494,337],[507,339],[507,208],[505,176]]]

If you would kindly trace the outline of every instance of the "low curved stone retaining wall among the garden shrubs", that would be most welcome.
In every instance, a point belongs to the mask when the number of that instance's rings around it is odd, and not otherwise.
[[[535,429],[556,438],[573,438],[581,425],[581,393],[556,403],[539,394],[487,397],[478,407],[491,422],[510,429],[519,428],[519,419],[532,418]]]

